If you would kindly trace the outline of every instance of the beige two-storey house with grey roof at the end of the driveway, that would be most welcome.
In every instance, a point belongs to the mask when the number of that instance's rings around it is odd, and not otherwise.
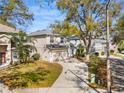
[[[68,48],[64,37],[47,30],[38,30],[29,36],[35,39],[35,47],[41,59],[52,62],[67,58]]]

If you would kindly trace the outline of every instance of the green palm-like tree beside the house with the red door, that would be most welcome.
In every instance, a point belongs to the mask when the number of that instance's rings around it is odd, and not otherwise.
[[[33,46],[33,39],[23,31],[12,34],[11,41],[15,45],[20,63],[28,60],[31,51],[36,51],[35,46]]]

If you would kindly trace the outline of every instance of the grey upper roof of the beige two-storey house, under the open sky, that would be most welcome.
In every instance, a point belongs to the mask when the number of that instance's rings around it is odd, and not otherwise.
[[[36,32],[32,32],[29,35],[30,36],[41,36],[41,35],[52,35],[52,31],[48,31],[48,30],[38,30]]]

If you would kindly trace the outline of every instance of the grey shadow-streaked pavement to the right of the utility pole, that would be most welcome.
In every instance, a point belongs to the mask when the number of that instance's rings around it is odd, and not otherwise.
[[[124,60],[111,58],[113,85],[116,90],[124,93]]]

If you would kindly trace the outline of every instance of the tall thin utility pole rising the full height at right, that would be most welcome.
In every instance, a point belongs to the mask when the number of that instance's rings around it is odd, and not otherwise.
[[[110,0],[108,0],[107,4],[106,4],[106,48],[107,48],[107,93],[112,93],[111,91],[111,63],[109,60],[110,57],[110,38],[109,38],[109,3]]]

